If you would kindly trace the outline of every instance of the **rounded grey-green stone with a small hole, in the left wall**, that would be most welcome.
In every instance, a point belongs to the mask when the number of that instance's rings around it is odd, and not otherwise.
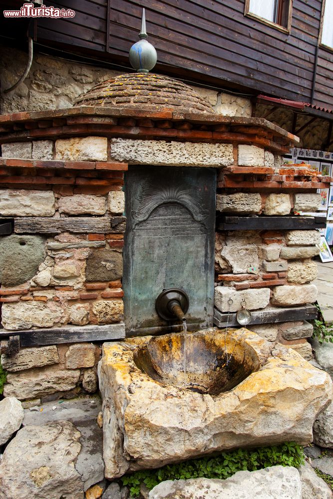
[[[45,239],[41,236],[0,238],[0,282],[16,286],[31,279],[46,255]]]

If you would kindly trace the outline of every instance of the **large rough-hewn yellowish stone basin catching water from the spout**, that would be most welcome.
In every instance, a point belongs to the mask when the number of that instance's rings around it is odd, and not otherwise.
[[[313,423],[333,397],[325,371],[245,328],[227,335],[210,328],[186,342],[185,375],[181,333],[104,343],[106,478],[227,449],[313,440]]]

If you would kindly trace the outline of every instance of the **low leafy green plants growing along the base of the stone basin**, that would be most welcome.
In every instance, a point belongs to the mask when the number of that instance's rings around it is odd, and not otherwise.
[[[295,466],[304,464],[303,447],[294,442],[259,447],[258,449],[222,452],[214,457],[191,459],[183,463],[166,465],[156,470],[142,470],[121,478],[123,485],[130,487],[131,496],[140,494],[142,483],[153,489],[165,480],[187,480],[190,478],[225,479],[238,471],[256,471],[269,466]]]

